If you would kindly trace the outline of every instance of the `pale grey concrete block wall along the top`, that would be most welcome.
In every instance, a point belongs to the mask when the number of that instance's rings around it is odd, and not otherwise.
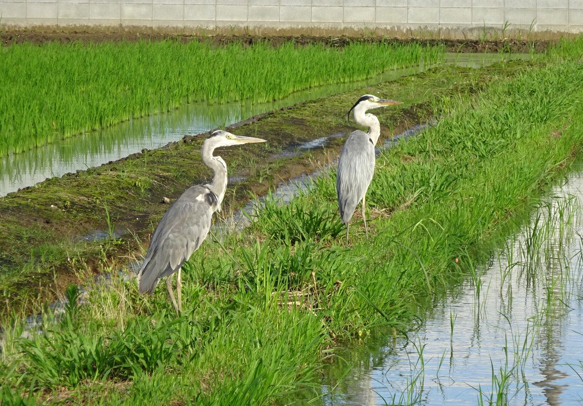
[[[0,0],[0,25],[138,27],[171,33],[536,36],[583,32],[583,0]]]

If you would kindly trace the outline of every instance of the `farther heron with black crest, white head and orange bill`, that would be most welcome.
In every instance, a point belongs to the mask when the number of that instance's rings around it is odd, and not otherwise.
[[[364,216],[364,197],[371,180],[373,180],[374,146],[381,135],[381,124],[377,117],[366,111],[394,104],[402,104],[402,102],[380,99],[365,94],[348,111],[349,120],[350,112],[354,110],[354,120],[361,126],[368,127],[368,133],[361,130],[352,131],[342,147],[338,161],[336,193],[338,194],[340,217],[346,225],[346,243],[348,243],[350,218],[352,218],[354,209],[360,201],[362,201],[364,232],[368,237],[368,227]]]

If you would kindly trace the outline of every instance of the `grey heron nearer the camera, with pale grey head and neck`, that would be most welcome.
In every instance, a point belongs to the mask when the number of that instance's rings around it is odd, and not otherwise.
[[[206,238],[210,230],[210,220],[214,212],[220,211],[227,189],[227,164],[220,156],[213,156],[213,151],[229,145],[264,142],[261,138],[241,137],[221,130],[213,132],[205,140],[201,149],[202,162],[213,170],[213,181],[211,184],[189,187],[168,208],[158,223],[138,273],[140,293],[153,293],[160,278],[167,276],[166,289],[174,309],[178,313],[182,311],[181,266]],[[178,272],[178,304],[172,291],[175,272]]]

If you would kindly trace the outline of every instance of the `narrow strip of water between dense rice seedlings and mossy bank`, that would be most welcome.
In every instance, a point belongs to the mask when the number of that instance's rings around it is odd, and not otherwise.
[[[448,65],[480,67],[508,59],[529,58],[528,54],[447,54]],[[359,87],[370,86],[423,72],[431,66],[420,64],[406,69],[389,70],[371,79],[321,86],[296,92],[289,97],[264,104],[206,103],[184,104],[169,113],[129,120],[107,129],[92,131],[34,148],[22,154],[0,157],[0,197],[19,188],[54,176],[85,170],[124,158],[143,148],[159,148],[188,134],[205,133],[228,126],[254,115],[311,99],[328,97]]]

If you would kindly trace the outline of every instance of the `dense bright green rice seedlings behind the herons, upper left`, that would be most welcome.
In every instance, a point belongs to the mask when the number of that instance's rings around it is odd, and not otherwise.
[[[441,47],[420,44],[13,44],[0,48],[0,156],[168,111],[185,100],[271,101],[442,57]]]

